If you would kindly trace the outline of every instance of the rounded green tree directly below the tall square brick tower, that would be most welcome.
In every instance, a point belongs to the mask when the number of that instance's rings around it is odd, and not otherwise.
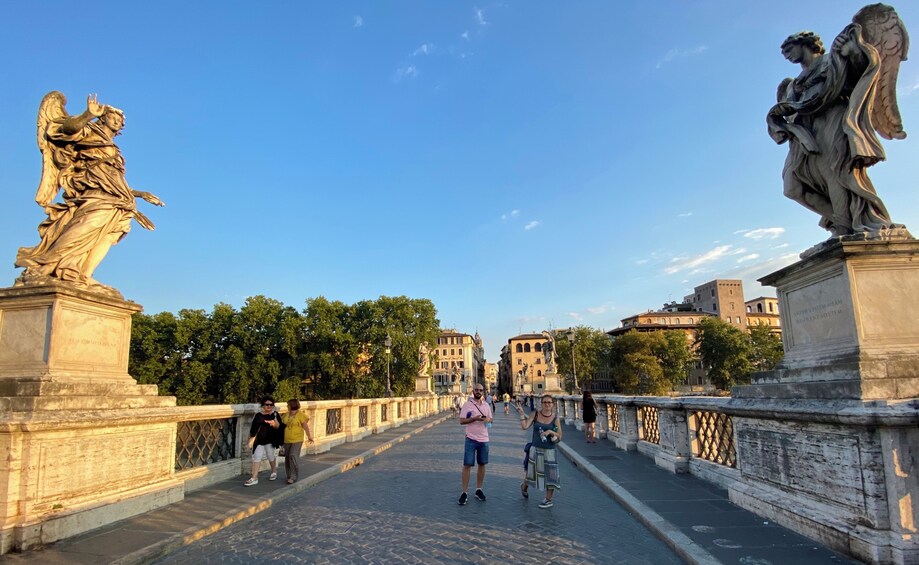
[[[697,344],[713,385],[730,390],[736,384],[750,382],[753,365],[749,334],[710,316],[699,322]]]

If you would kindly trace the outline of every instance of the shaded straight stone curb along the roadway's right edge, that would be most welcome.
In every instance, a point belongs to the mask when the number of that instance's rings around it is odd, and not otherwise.
[[[579,468],[585,475],[590,477],[595,483],[616,499],[619,504],[623,505],[639,522],[651,530],[654,535],[666,543],[670,549],[677,553],[687,563],[693,565],[714,565],[720,564],[721,561],[714,555],[705,551],[705,549],[696,542],[689,539],[686,534],[667,520],[664,520],[647,504],[641,502],[622,485],[612,480],[597,469],[580,453],[564,443],[558,444],[559,451],[567,457],[575,467]]]

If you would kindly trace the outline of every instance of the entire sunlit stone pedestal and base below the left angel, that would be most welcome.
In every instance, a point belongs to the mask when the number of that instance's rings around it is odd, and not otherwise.
[[[0,553],[184,496],[175,398],[127,372],[139,311],[67,285],[0,289]]]

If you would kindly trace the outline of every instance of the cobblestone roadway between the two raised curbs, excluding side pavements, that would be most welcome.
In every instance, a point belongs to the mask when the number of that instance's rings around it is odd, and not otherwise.
[[[463,429],[448,420],[158,563],[681,563],[564,457],[555,506],[520,496],[525,432],[496,415],[484,490],[459,506]]]

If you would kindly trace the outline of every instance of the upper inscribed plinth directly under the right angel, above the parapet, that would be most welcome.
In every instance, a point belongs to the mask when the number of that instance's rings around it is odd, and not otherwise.
[[[919,241],[839,238],[760,279],[778,291],[785,358],[738,398],[919,397]]]

